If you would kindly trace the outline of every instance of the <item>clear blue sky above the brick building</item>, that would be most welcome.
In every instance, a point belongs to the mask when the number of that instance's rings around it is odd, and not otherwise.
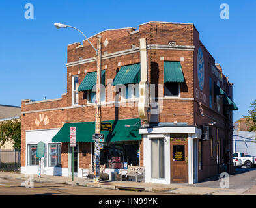
[[[25,19],[26,3],[34,19]],[[229,19],[220,5],[229,5]],[[2,0],[0,8],[0,103],[21,105],[21,99],[61,98],[66,92],[67,45],[105,29],[138,27],[148,21],[194,23],[201,41],[234,83],[239,107],[234,121],[248,114],[256,99],[256,1],[38,1]]]

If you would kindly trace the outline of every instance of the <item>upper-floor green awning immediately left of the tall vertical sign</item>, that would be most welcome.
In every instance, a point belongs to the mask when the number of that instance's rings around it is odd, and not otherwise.
[[[141,64],[121,66],[115,76],[113,86],[125,84],[139,84],[141,81]]]

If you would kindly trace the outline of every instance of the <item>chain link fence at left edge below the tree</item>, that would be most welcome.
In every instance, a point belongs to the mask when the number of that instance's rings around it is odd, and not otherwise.
[[[0,149],[0,171],[20,171],[20,150]]]

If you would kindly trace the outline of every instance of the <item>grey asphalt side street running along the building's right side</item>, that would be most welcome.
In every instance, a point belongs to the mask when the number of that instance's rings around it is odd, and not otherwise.
[[[211,187],[211,188],[220,188],[221,182],[220,175],[219,177],[212,177],[197,183],[193,186],[195,187]],[[256,186],[256,168],[236,168],[234,174],[229,175],[229,188],[253,188]],[[256,190],[256,188],[255,188]],[[256,194],[256,192],[255,192]]]

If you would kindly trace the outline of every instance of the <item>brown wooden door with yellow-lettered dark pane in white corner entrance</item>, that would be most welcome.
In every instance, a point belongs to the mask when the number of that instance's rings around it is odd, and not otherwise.
[[[188,142],[171,142],[171,183],[188,183]]]

